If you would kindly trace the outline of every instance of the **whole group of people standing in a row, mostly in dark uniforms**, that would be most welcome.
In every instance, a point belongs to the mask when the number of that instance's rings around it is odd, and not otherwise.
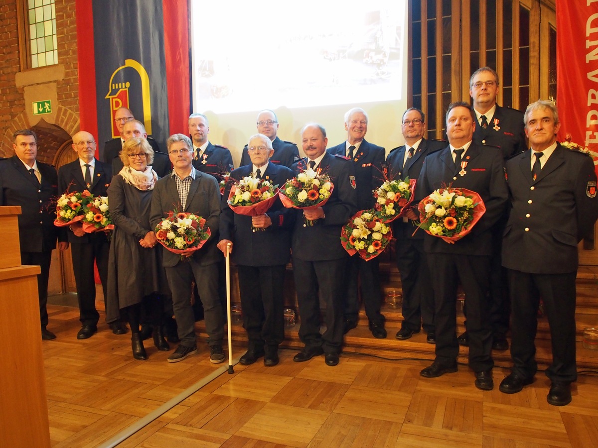
[[[401,119],[405,145],[388,157],[385,148],[365,140],[368,115],[361,108],[345,114],[347,138],[337,146],[328,145],[321,124],[305,125],[303,158],[297,145],[277,136],[276,113],[261,111],[258,132],[243,148],[237,169],[228,149],[209,142],[208,118],[200,113],[189,117],[191,138],[173,134],[163,154],[142,122],[129,109],[118,109],[115,121],[121,138],[106,143],[103,161],[95,157],[94,137],[80,131],[72,145],[77,160],[58,173],[36,161],[35,133],[17,131],[14,157],[0,161],[0,205],[22,206],[23,263],[42,266],[38,277],[42,339],[55,337],[47,329],[45,305],[50,254],[58,238],[60,250],[69,244],[72,250],[81,320],[78,339],[97,331],[95,262],[107,321],[117,334],[127,332],[129,323],[135,358],[147,358],[144,324],[153,329],[159,350],[170,349],[161,328],[164,315],[172,314],[179,345],[168,361],[182,361],[197,352],[190,300],[195,284],[205,314],[210,361],[224,361],[221,265],[230,256],[237,265],[248,335],[240,363],[263,358],[264,365],[274,366],[284,337],[283,291],[291,260],[301,318],[299,337],[304,343],[293,360],[323,354],[325,363],[335,366],[343,335],[358,323],[359,297],[373,337],[387,337],[380,313],[378,259],[349,257],[341,246],[341,228],[357,211],[373,208],[372,191],[384,180],[417,179],[411,208],[392,226],[403,293],[403,320],[395,337],[407,340],[423,328],[427,342],[435,344],[434,362],[420,375],[435,378],[456,372],[459,345],[467,345],[475,386],[493,389],[492,350],[509,348],[510,328],[514,367],[499,389],[508,394],[521,391],[538,370],[534,339],[542,300],[553,346],[553,364],[546,372],[551,380],[547,400],[555,406],[568,404],[570,383],[576,381],[577,244],[598,217],[594,165],[588,155],[556,141],[560,123],[552,103],[532,103],[525,113],[502,108],[496,104],[498,74],[490,67],[474,72],[469,86],[473,106],[455,102],[447,109],[448,142],[423,138],[425,115],[409,108]],[[282,186],[306,168],[328,174],[334,183],[325,205],[300,210],[285,208],[277,199],[266,213],[253,217],[228,207],[234,180],[254,176]],[[228,172],[230,179],[221,195],[219,181]],[[471,233],[451,243],[414,232],[419,201],[445,186],[477,192],[486,207]],[[84,189],[108,195],[116,225],[112,242],[105,232],[80,237],[54,227],[52,201],[64,192]],[[154,229],[170,211],[205,218],[212,232],[205,246],[186,257],[161,248]],[[304,225],[305,219],[313,226]],[[459,285],[466,296],[466,332],[457,336]]]

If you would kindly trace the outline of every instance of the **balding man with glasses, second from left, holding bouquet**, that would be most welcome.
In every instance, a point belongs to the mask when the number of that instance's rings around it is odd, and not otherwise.
[[[89,132],[80,131],[72,137],[72,141],[73,151],[77,153],[78,158],[58,170],[59,194],[87,190],[94,196],[107,196],[106,189],[112,179],[112,169],[109,164],[102,163],[94,157],[96,140]],[[106,303],[110,242],[105,232],[93,232],[78,237],[71,229],[68,231],[68,241],[71,243],[81,321],[77,339],[87,339],[97,332],[97,321],[100,317],[96,309],[93,263],[96,263],[100,274],[104,303]],[[122,335],[127,331],[121,321],[110,324],[110,327],[115,335]]]

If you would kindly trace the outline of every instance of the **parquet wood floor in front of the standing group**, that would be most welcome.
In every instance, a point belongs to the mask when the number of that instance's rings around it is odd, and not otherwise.
[[[212,373],[208,346],[169,364],[170,352],[145,344],[149,359],[133,360],[130,333],[106,324],[77,340],[78,310],[48,306],[57,339],[43,342],[53,447],[95,447]],[[103,315],[100,318],[103,322]],[[392,337],[392,335],[389,335]],[[173,347],[174,348],[174,347]],[[234,357],[244,352],[235,346]],[[508,374],[495,368],[493,391],[474,386],[465,366],[425,379],[429,361],[387,361],[341,355],[294,363],[234,366],[119,447],[593,447],[598,441],[598,378],[580,376],[569,406],[546,402],[550,383],[541,373],[523,392],[505,395]],[[23,422],[23,424],[30,424]]]

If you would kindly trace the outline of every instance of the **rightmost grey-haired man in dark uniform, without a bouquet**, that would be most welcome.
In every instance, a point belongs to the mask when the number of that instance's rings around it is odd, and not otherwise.
[[[514,394],[533,382],[538,371],[534,340],[542,297],[553,353],[553,363],[545,372],[551,381],[547,401],[565,406],[571,401],[571,383],[577,379],[577,245],[598,217],[596,173],[587,154],[556,141],[560,122],[553,103],[530,104],[524,120],[531,150],[511,158],[506,167],[511,210],[502,265],[508,269],[512,297],[514,366],[499,389]]]

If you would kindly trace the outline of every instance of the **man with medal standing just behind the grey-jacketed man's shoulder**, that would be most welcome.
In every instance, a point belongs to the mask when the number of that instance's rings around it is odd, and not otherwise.
[[[202,173],[208,173],[222,180],[224,173],[233,171],[233,156],[228,148],[212,145],[208,141],[210,124],[203,113],[189,116],[189,134],[193,140],[193,166]]]

